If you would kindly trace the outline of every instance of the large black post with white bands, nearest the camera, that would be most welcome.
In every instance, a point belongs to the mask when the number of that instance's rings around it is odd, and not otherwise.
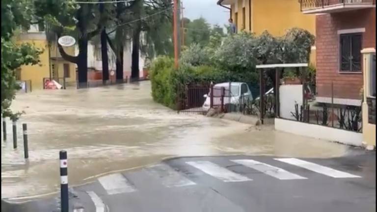
[[[60,159],[60,204],[61,212],[68,212],[68,164],[67,152],[59,152]]]

